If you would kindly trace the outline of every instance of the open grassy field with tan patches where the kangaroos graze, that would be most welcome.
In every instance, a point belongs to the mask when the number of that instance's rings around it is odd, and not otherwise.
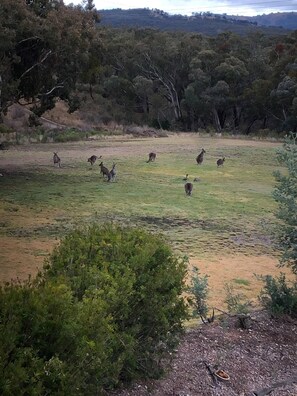
[[[64,144],[17,146],[0,153],[0,278],[34,275],[69,230],[116,221],[162,232],[175,251],[210,275],[210,303],[221,306],[232,283],[255,303],[257,274],[279,269],[273,234],[277,225],[272,172],[280,143],[171,135],[105,138]],[[201,166],[195,158],[206,150]],[[53,152],[61,169],[52,162]],[[146,163],[155,151],[154,163]],[[115,182],[103,181],[98,160],[117,164]],[[217,168],[216,160],[226,157]],[[185,174],[194,182],[184,193]]]

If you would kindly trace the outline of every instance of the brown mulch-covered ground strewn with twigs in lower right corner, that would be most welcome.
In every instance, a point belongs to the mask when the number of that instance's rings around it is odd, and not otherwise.
[[[242,330],[236,318],[189,329],[163,379],[138,382],[114,396],[296,396],[297,320],[252,315]],[[215,381],[207,365],[224,370],[229,381]],[[293,382],[294,381],[294,382]],[[282,386],[273,389],[279,382]],[[263,389],[267,389],[264,393]],[[262,391],[262,393],[261,393]]]

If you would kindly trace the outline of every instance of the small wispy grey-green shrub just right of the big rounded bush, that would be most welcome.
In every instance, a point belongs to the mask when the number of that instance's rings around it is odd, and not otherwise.
[[[194,316],[200,316],[205,320],[207,318],[208,306],[208,276],[201,276],[199,269],[195,267],[193,269],[193,275],[191,278],[191,286],[188,288],[188,292],[193,296],[190,297],[190,304],[194,307]]]

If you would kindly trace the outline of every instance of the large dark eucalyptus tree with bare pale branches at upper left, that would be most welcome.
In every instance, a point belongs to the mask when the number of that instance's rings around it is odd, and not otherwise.
[[[58,97],[74,110],[72,92],[96,37],[93,14],[59,0],[2,0],[0,25],[0,112],[19,102],[40,116]]]

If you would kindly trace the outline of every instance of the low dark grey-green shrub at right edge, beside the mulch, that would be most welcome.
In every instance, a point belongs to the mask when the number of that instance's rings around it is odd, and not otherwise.
[[[274,316],[297,317],[297,283],[290,286],[283,273],[277,278],[267,275],[263,281],[264,289],[259,296],[262,305]]]

